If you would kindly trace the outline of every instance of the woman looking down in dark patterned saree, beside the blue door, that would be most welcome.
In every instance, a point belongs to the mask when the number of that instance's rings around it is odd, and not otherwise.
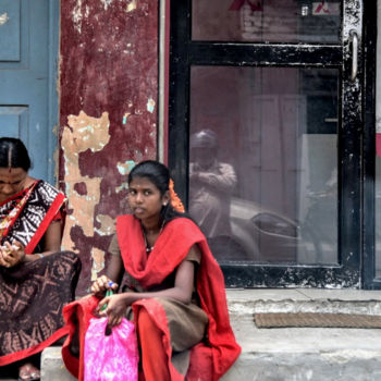
[[[19,380],[39,380],[30,356],[67,334],[62,308],[81,271],[60,253],[65,196],[29,168],[23,143],[0,138],[0,367],[19,361]]]

